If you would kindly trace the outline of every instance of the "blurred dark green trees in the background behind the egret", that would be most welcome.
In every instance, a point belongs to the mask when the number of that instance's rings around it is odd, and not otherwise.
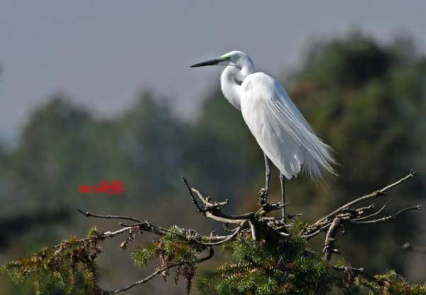
[[[420,176],[393,193],[390,208],[424,205],[426,191],[426,56],[405,36],[381,44],[362,33],[310,44],[300,68],[283,79],[305,117],[334,147],[339,177],[329,186],[303,178],[288,182],[290,213],[307,221],[349,198],[395,181],[410,168]],[[212,230],[182,186],[256,208],[264,179],[263,156],[241,114],[212,90],[193,122],[175,117],[167,100],[143,92],[129,111],[95,119],[57,94],[35,109],[13,149],[0,145],[0,262],[57,244],[92,225],[76,208],[101,214],[149,218],[165,227],[180,223]],[[104,179],[124,181],[121,196],[80,194],[79,186]],[[279,198],[273,171],[273,200]],[[384,201],[384,200],[383,200]],[[396,222],[346,228],[337,244],[354,267],[395,269],[413,282],[426,280],[426,255],[400,250],[403,242],[426,245],[425,215],[407,213]],[[142,240],[141,240],[142,242]],[[322,239],[311,244],[322,248]],[[116,241],[101,256],[102,286],[114,288],[143,277]],[[209,262],[204,267],[214,267]],[[0,277],[4,294],[32,294]],[[129,294],[183,294],[183,284],[154,279]],[[132,293],[133,292],[133,293]],[[58,293],[60,294],[60,293]]]

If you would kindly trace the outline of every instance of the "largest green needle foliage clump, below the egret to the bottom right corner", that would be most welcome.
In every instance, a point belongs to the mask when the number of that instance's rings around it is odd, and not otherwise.
[[[408,284],[391,271],[368,279],[356,272],[337,272],[318,252],[309,250],[293,227],[290,237],[282,243],[255,242],[241,237],[222,246],[228,259],[214,271],[204,272],[197,281],[202,294],[283,294],[317,295],[425,295],[426,286]],[[340,259],[337,266],[347,265]]]

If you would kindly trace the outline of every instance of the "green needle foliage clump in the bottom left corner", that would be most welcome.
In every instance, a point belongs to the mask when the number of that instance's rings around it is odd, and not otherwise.
[[[65,294],[100,294],[95,258],[101,253],[97,238],[75,237],[55,247],[46,247],[29,257],[4,264],[1,272],[16,284],[31,280],[35,294],[60,289]]]

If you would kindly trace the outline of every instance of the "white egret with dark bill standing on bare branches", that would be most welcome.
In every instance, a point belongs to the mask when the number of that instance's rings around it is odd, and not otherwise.
[[[244,121],[263,150],[266,165],[265,195],[268,195],[268,159],[280,171],[281,202],[285,202],[284,178],[305,173],[319,181],[334,173],[332,149],[324,144],[302,116],[280,83],[265,73],[255,72],[249,55],[231,51],[219,58],[191,65],[225,66],[220,78],[228,100],[243,114]],[[282,209],[285,219],[285,209]]]

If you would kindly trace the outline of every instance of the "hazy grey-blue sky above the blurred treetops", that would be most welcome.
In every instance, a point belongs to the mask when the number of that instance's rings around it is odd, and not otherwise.
[[[297,67],[312,40],[351,27],[389,40],[406,32],[426,51],[426,1],[0,1],[0,138],[54,92],[115,114],[149,88],[181,114],[219,83],[189,65],[244,50],[273,75]],[[173,96],[172,96],[173,95]]]

